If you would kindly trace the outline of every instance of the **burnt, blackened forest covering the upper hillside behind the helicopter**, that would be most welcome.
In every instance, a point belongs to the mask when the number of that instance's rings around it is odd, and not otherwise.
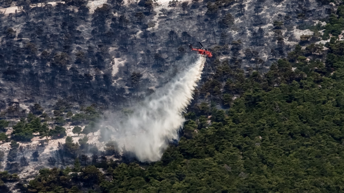
[[[36,6],[30,9],[30,3]],[[326,2],[291,1],[276,15],[280,3],[171,1],[169,7],[153,10],[159,2],[109,0],[90,12],[84,0],[56,6],[19,1],[21,11],[1,15],[1,93],[6,96],[1,115],[25,116],[14,98],[49,108],[58,99],[69,109],[91,103],[103,109],[130,106],[173,75],[187,42],[218,43],[206,72],[213,72],[212,63],[223,55],[230,56],[228,64],[234,68],[266,71],[265,66],[292,49],[283,30],[304,28],[328,14],[322,11],[329,7]],[[114,57],[126,60],[119,65]],[[119,66],[116,75],[113,65]]]

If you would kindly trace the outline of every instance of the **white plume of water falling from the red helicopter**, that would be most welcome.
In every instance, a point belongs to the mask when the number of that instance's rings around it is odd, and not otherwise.
[[[126,120],[113,125],[115,141],[140,161],[158,161],[185,121],[182,113],[193,98],[205,57],[189,58],[171,81],[134,107]]]

